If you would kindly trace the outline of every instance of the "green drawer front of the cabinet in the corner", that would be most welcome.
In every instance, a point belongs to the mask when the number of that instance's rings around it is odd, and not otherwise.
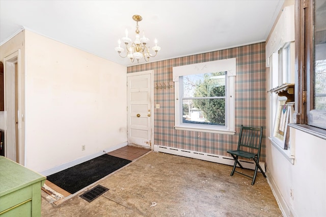
[[[26,186],[0,198],[0,212],[32,198],[32,185]],[[15,216],[15,215],[13,215]]]

